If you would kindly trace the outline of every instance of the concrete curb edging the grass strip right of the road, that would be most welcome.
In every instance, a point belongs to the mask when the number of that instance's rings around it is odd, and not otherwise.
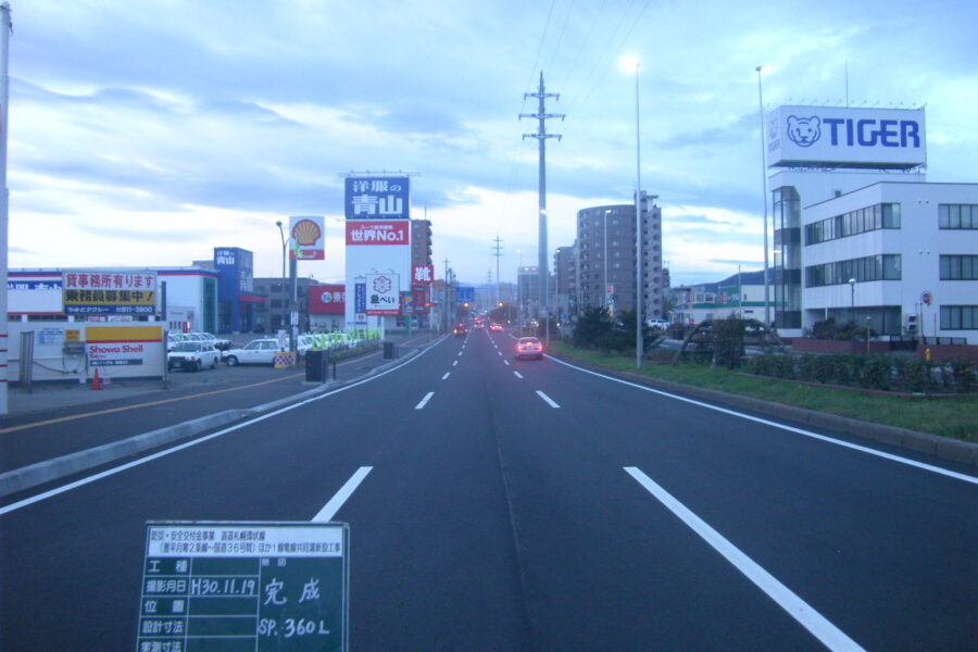
[[[553,353],[550,353],[550,355],[553,355]],[[560,356],[554,355],[554,358]],[[895,426],[863,422],[847,416],[839,416],[837,414],[828,414],[815,410],[807,410],[805,408],[795,408],[794,405],[776,403],[774,401],[764,401],[762,399],[731,394],[717,389],[680,385],[679,383],[673,383],[670,380],[661,380],[659,378],[650,378],[630,372],[609,369],[593,364],[581,363],[576,360],[563,358],[561,360],[586,369],[600,372],[607,376],[630,380],[639,385],[647,385],[656,389],[674,391],[678,394],[691,396],[779,418],[801,422],[808,426],[840,430],[847,435],[864,437],[890,446],[928,453],[944,460],[978,466],[978,443],[961,441],[958,439],[949,439],[948,437],[940,437],[938,435],[931,435],[930,432],[918,432],[916,430],[907,430]]]

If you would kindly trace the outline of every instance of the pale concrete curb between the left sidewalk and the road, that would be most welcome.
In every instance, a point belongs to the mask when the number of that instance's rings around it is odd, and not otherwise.
[[[436,342],[437,341],[439,340],[436,340]],[[128,437],[118,441],[112,441],[110,443],[86,449],[84,451],[68,453],[66,455],[61,455],[60,457],[45,460],[43,462],[37,462],[36,464],[30,464],[28,466],[22,466],[21,468],[8,471],[7,473],[0,474],[0,497],[16,493],[17,491],[23,491],[25,489],[30,489],[32,487],[37,487],[38,485],[42,485],[43,482],[57,480],[58,478],[80,473],[83,471],[87,471],[102,464],[108,464],[110,462],[115,462],[116,460],[121,460],[123,457],[136,455],[165,443],[172,443],[180,439],[187,439],[189,437],[193,437],[195,435],[199,435],[213,428],[220,428],[221,426],[226,426],[227,424],[247,418],[249,416],[256,416],[264,412],[269,412],[285,405],[290,405],[292,403],[301,402],[305,399],[327,393],[335,389],[346,387],[347,385],[352,385],[365,378],[376,376],[377,374],[380,374],[387,369],[391,369],[396,366],[400,366],[417,354],[418,349],[412,349],[403,356],[392,362],[388,362],[380,366],[374,367],[368,373],[358,378],[352,378],[350,380],[331,380],[321,385],[319,387],[314,387],[290,397],[276,399],[268,403],[255,405],[254,408],[225,410],[224,412],[217,412],[208,416],[201,416],[199,418],[190,419],[180,424],[176,424],[174,426],[166,426],[156,430],[143,432],[142,435],[136,435],[134,437]]]

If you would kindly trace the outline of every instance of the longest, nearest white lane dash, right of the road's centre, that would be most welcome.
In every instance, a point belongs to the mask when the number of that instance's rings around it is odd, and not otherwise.
[[[845,636],[841,629],[832,625],[817,611],[812,609],[804,600],[799,598],[788,587],[777,580],[770,573],[762,568],[754,560],[745,555],[736,546],[730,543],[718,531],[710,527],[706,522],[693,514],[686,505],[673,498],[673,496],[660,487],[647,476],[640,468],[625,466],[625,472],[654,496],[659,502],[665,505],[673,514],[679,517],[691,530],[697,532],[704,541],[720,553],[724,559],[734,564],[738,570],[754,585],[767,593],[767,597],[778,603],[778,606],[788,612],[802,627],[807,629],[815,638],[829,650],[862,650],[854,640]]]

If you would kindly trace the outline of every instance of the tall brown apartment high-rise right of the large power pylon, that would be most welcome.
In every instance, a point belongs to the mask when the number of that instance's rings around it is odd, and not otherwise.
[[[662,209],[641,193],[642,314],[663,316]],[[635,310],[635,204],[592,206],[577,213],[577,310]]]

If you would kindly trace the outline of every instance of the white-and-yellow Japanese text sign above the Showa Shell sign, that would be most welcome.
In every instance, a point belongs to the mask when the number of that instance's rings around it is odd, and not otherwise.
[[[68,315],[152,315],[156,312],[156,273],[86,269],[62,274]]]

